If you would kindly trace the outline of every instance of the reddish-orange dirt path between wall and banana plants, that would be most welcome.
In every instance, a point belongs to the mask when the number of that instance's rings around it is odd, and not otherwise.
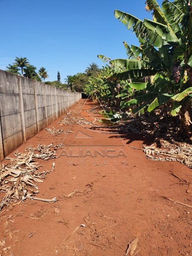
[[[38,197],[58,201],[27,199],[0,213],[0,240],[5,241],[3,248],[9,247],[4,252],[1,248],[2,255],[124,256],[135,238],[137,247],[126,255],[192,255],[192,209],[162,197],[192,205],[188,186],[169,173],[192,182],[187,176],[191,169],[147,160],[142,150],[129,146],[140,148],[148,139],[98,128],[98,111],[96,104],[82,99],[49,126],[71,132],[52,136],[41,131],[18,148],[65,145],[57,159],[38,161],[42,169],[55,163],[55,170],[38,184]]]

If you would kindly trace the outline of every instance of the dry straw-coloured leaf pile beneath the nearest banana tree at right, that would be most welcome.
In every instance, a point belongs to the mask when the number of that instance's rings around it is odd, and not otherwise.
[[[162,148],[163,147],[163,148]],[[161,148],[154,144],[147,147],[143,145],[146,157],[155,161],[177,161],[192,168],[192,145],[188,143],[161,141]]]

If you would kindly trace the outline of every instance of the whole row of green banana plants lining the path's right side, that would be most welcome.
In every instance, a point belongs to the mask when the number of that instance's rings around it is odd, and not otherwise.
[[[125,112],[179,117],[180,130],[192,139],[192,0],[146,0],[152,20],[140,20],[115,10],[115,17],[135,33],[138,46],[124,47],[127,59],[111,60],[97,77],[90,77],[87,94]]]

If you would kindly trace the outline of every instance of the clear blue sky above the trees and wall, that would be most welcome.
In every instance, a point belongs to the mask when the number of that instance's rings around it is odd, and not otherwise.
[[[45,67],[49,81],[59,71],[64,82],[92,62],[102,67],[98,54],[126,58],[122,41],[137,44],[137,38],[114,9],[151,18],[145,0],[0,0],[0,69],[22,56]]]

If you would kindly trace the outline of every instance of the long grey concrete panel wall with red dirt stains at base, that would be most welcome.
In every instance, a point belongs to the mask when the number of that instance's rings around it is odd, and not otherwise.
[[[55,121],[81,93],[0,70],[0,160]]]

